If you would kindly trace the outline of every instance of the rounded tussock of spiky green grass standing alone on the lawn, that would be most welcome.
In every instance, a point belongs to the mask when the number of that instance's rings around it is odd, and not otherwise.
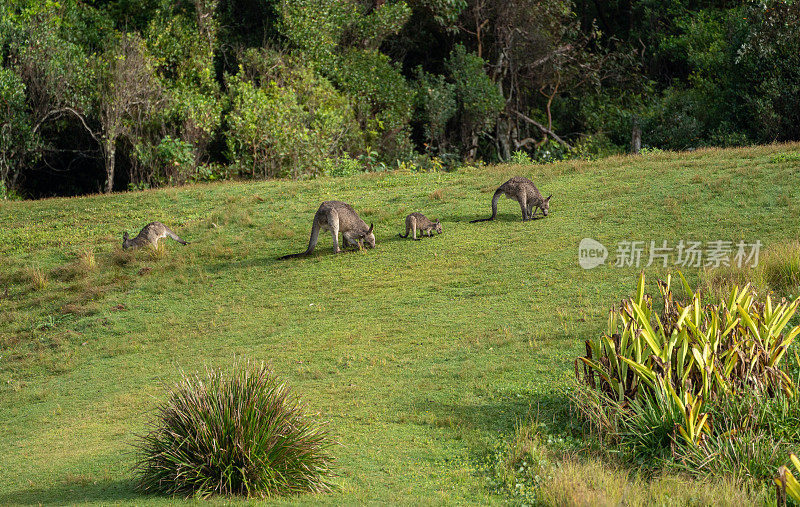
[[[263,363],[184,376],[137,444],[142,490],[271,497],[330,490],[324,424]]]

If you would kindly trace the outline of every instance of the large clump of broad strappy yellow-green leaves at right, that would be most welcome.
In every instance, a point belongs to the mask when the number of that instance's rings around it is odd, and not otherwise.
[[[640,277],[608,332],[586,341],[573,401],[601,442],[638,466],[763,484],[800,443],[796,368],[783,361],[800,334],[789,326],[800,298],[773,304],[734,286],[702,304],[681,281],[688,304],[673,300],[667,277],[654,305]]]

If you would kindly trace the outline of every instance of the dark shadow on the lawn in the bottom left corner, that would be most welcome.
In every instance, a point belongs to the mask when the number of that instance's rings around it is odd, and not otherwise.
[[[0,505],[65,505],[96,502],[143,500],[135,483],[128,480],[64,481],[49,487],[38,487],[0,493]]]

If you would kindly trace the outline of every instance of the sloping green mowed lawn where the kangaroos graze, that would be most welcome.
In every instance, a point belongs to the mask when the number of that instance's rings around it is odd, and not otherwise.
[[[517,420],[570,428],[572,362],[635,284],[636,268],[581,269],[581,239],[609,261],[619,241],[797,239],[798,152],[0,202],[0,505],[175,503],[136,492],[131,444],[181,371],[239,359],[271,364],[340,443],[336,490],[285,501],[507,500],[481,471],[488,449]],[[553,194],[550,216],[523,223],[503,199],[495,222],[469,224],[514,175]],[[333,255],[322,234],[310,258],[276,260],[305,249],[330,199],[375,224],[377,248]],[[398,238],[412,211],[444,233]],[[130,260],[122,232],[152,220],[191,244]],[[76,264],[87,249],[94,269]]]

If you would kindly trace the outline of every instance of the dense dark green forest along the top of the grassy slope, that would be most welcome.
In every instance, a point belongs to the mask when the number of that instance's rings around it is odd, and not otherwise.
[[[4,0],[0,198],[800,139],[797,0]]]

